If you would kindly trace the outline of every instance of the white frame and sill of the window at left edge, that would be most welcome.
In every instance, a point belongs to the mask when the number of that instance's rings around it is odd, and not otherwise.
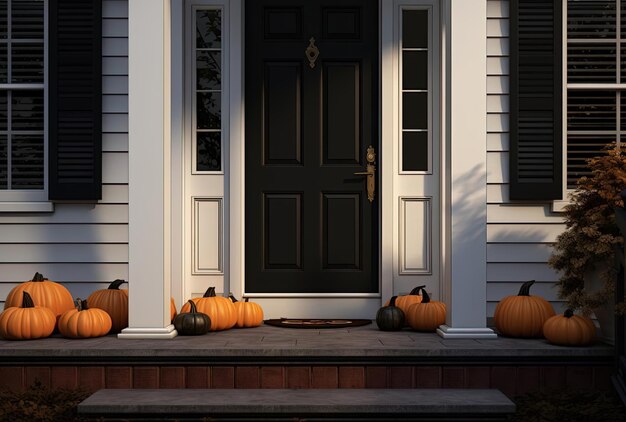
[[[44,129],[43,129],[43,141],[44,141],[44,166],[43,166],[43,189],[38,190],[30,190],[30,189],[12,189],[12,190],[0,190],[0,213],[3,212],[52,212],[54,211],[54,203],[48,200],[48,157],[49,157],[49,148],[48,148],[48,93],[49,93],[49,36],[48,36],[48,7],[49,2],[44,0],[44,42],[43,42],[43,50],[44,50],[44,81],[43,81],[43,92],[44,92]],[[7,16],[7,19],[10,19]],[[7,50],[8,52],[8,50]],[[7,81],[8,82],[8,81]],[[36,88],[40,89],[41,84],[1,84],[0,88],[5,89],[29,89]],[[10,116],[9,116],[10,118]],[[7,169],[8,171],[8,169]]]

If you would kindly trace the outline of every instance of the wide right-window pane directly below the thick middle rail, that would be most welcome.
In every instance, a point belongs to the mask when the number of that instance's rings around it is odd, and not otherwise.
[[[615,91],[569,90],[567,95],[568,130],[617,129]]]

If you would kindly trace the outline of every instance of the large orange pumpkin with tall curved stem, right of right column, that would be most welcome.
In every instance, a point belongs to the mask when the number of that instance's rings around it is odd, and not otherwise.
[[[507,296],[496,306],[493,320],[500,334],[509,337],[542,337],[543,324],[554,315],[550,302],[530,295],[535,280],[522,285],[517,296]]]

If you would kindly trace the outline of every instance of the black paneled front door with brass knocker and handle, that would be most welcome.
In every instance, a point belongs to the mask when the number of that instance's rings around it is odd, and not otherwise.
[[[246,293],[378,292],[378,2],[245,9]]]

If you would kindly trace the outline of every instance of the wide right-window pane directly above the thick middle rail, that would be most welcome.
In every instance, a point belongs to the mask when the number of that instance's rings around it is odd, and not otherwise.
[[[570,83],[616,83],[617,45],[569,43],[567,81]]]

